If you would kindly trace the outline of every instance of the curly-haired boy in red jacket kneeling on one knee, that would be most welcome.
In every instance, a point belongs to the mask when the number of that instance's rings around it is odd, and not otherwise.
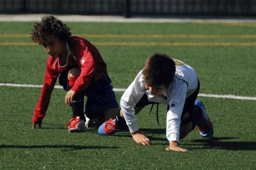
[[[32,117],[33,128],[36,124],[41,128],[59,75],[60,85],[67,91],[65,104],[71,105],[73,111],[73,118],[67,124],[69,132],[84,131],[85,116],[100,121],[99,125],[116,116],[114,113],[119,106],[110,85],[107,66],[92,43],[82,37],[71,36],[69,27],[50,15],[42,17],[40,23],[34,23],[31,40],[43,45],[50,55],[43,89]],[[85,112],[84,96],[87,96]]]

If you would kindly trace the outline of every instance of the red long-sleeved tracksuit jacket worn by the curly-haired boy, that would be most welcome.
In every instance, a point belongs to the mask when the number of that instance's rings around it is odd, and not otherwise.
[[[81,69],[81,74],[72,88],[76,93],[86,89],[90,85],[92,77],[94,77],[94,81],[98,81],[108,75],[106,63],[92,43],[82,37],[72,36],[68,45],[73,57],[68,57],[67,66],[60,67],[66,63],[61,63],[59,66],[58,58],[52,56],[48,58],[43,89],[32,118],[34,123],[38,121],[38,118],[44,118],[56,80],[60,72],[65,71],[69,66],[76,65]]]

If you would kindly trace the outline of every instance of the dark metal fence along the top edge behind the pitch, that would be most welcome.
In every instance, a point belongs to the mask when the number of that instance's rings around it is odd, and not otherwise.
[[[0,0],[0,13],[256,15],[256,0]]]

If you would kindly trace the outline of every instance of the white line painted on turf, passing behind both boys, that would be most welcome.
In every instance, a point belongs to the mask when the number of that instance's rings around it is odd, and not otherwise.
[[[13,84],[13,83],[0,83],[0,86],[9,86],[9,87],[32,87],[32,88],[42,88],[43,85],[33,85],[33,84]],[[56,85],[54,88],[62,89],[62,86]],[[113,88],[114,91],[125,91],[126,89]],[[238,99],[238,100],[256,100],[256,97],[247,97],[247,96],[235,96],[235,95],[215,95],[215,94],[203,94],[200,93],[198,96],[201,97],[216,97],[216,98],[229,98],[229,99]]]

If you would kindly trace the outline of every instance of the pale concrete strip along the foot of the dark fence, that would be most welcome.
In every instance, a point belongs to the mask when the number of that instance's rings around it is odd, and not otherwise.
[[[6,15],[0,14],[0,22],[39,22],[41,21],[41,16],[46,14],[14,14],[14,15]],[[173,17],[165,17],[165,16],[158,16],[158,17],[140,17],[132,15],[132,18],[124,18],[124,16],[111,16],[111,15],[55,15],[63,22],[119,22],[119,23],[189,23],[189,22],[196,22],[196,23],[207,23],[207,22],[220,22],[220,23],[256,23],[254,18],[244,17],[244,18],[225,18],[222,19],[204,19],[202,18],[184,18],[177,16],[176,18]]]

